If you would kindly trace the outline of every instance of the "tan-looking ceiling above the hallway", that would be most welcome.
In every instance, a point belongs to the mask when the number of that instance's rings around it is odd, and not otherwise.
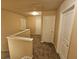
[[[2,0],[2,8],[25,13],[32,10],[55,10],[63,0]]]

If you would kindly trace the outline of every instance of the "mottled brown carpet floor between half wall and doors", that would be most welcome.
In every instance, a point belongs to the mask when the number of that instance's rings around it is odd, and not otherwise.
[[[33,59],[60,59],[53,44],[40,42],[40,36],[33,38]]]

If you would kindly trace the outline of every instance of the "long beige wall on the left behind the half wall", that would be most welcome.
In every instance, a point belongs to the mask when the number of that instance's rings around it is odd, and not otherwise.
[[[1,11],[1,49],[8,51],[8,43],[6,36],[14,34],[20,30],[20,19],[23,16],[9,12],[6,10]]]

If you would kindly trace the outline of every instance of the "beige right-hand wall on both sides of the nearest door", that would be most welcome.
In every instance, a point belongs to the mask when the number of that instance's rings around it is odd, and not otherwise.
[[[57,40],[58,40],[58,33],[59,33],[59,24],[60,24],[60,13],[67,8],[69,5],[71,5],[75,0],[65,0],[61,6],[57,10],[57,17],[56,17],[56,25],[55,25],[55,47],[57,47]],[[76,20],[76,19],[75,19]],[[76,21],[73,26],[73,31],[71,35],[71,44],[70,44],[70,49],[69,49],[69,55],[68,59],[76,59]]]

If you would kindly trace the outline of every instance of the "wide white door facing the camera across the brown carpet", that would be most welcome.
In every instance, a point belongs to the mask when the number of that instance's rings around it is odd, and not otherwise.
[[[43,16],[42,42],[52,42],[54,39],[55,16]]]

